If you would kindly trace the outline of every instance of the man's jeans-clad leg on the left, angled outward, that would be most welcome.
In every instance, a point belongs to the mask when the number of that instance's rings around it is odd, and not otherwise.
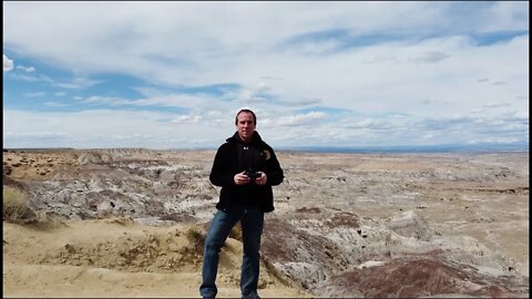
[[[216,275],[218,272],[219,250],[225,244],[231,229],[238,221],[238,214],[217,210],[214,215],[207,237],[205,238],[205,247],[203,255],[203,282],[200,286],[202,297],[214,298],[218,292],[216,288]]]

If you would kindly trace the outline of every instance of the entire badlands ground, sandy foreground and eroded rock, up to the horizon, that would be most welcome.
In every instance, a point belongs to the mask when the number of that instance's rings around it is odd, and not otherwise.
[[[3,297],[198,297],[214,151],[4,150]],[[263,297],[529,297],[529,153],[278,152]],[[242,243],[222,250],[238,297]]]

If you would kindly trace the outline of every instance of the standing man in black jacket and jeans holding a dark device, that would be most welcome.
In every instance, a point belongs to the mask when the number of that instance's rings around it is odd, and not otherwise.
[[[229,231],[241,221],[244,255],[242,260],[242,298],[259,298],[257,293],[260,265],[260,236],[264,214],[274,210],[272,186],[284,179],[274,153],[255,131],[257,117],[250,110],[241,110],[235,117],[236,132],[219,146],[209,179],[221,186],[217,212],[205,238],[200,293],[214,298],[219,250]]]

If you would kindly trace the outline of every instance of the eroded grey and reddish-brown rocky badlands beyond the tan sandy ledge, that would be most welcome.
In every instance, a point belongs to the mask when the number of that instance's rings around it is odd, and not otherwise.
[[[3,184],[69,219],[205,225],[219,190],[214,154],[7,152]],[[286,178],[262,254],[315,296],[528,297],[529,153],[278,158]]]

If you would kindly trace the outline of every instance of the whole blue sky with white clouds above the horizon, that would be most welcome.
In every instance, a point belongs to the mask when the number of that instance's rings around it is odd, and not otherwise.
[[[529,2],[3,1],[4,147],[529,143]]]

